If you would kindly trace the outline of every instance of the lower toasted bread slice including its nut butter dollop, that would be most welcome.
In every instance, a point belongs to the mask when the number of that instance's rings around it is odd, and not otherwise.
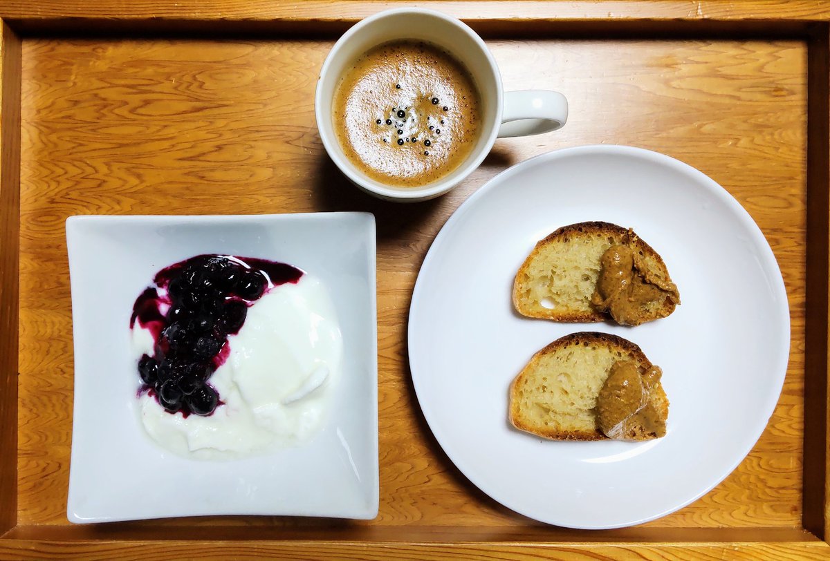
[[[510,384],[510,423],[552,440],[651,440],[666,435],[662,371],[639,346],[582,331],[537,352]]]

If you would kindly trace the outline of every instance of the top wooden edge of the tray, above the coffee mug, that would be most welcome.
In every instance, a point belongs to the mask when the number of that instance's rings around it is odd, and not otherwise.
[[[826,21],[830,19],[830,7],[826,2],[814,0],[745,0],[724,2],[723,0],[547,0],[532,2],[427,0],[369,0],[354,2],[348,8],[338,0],[5,0],[0,7],[0,17],[18,23],[25,21],[36,26],[40,21],[54,21],[61,18],[86,18],[107,20],[110,25],[119,20],[141,20],[153,18],[219,20],[222,22],[244,22],[250,20],[273,21],[308,20],[318,22],[357,21],[395,5],[432,7],[449,12],[456,17],[471,20],[500,19],[551,19],[621,22],[631,19],[665,20],[757,20],[782,22],[787,20]]]

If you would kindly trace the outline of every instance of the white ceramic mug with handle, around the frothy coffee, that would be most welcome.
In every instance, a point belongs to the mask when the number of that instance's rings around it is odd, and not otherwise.
[[[425,186],[384,185],[360,172],[345,157],[334,133],[332,100],[340,77],[354,61],[387,41],[414,39],[439,46],[470,70],[481,94],[481,133],[471,154],[454,171]],[[501,75],[484,41],[470,27],[441,12],[398,8],[367,17],[346,31],[332,47],[320,70],[315,117],[326,152],[356,186],[388,201],[425,201],[443,195],[470,175],[493,148],[497,137],[547,133],[568,119],[568,100],[543,89],[505,92]]]

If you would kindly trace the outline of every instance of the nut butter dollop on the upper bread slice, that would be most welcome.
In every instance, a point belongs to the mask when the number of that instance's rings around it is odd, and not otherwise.
[[[663,317],[659,309],[666,300],[680,303],[675,283],[652,271],[640,253],[628,245],[612,245],[605,251],[591,297],[600,312],[610,313],[620,324],[638,326]]]

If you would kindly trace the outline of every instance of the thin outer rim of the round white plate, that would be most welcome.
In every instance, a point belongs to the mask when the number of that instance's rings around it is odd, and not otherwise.
[[[525,170],[525,168],[535,167],[538,165],[544,165],[546,162],[554,162],[558,159],[568,158],[568,157],[579,157],[584,155],[594,155],[594,156],[624,156],[624,157],[632,157],[635,159],[646,160],[652,164],[662,165],[673,169],[676,172],[680,172],[681,174],[685,174],[687,176],[691,176],[696,182],[700,183],[701,186],[704,186],[707,191],[712,193],[715,197],[717,197],[720,201],[723,201],[727,206],[730,207],[730,211],[735,218],[740,220],[741,225],[745,227],[745,230],[749,231],[751,235],[760,241],[763,241],[763,244],[758,244],[760,246],[761,251],[764,253],[763,258],[764,261],[770,264],[774,268],[774,272],[777,275],[774,275],[774,289],[777,293],[780,294],[779,301],[777,302],[777,309],[776,312],[779,314],[780,317],[784,318],[786,325],[786,343],[785,343],[785,352],[783,353],[783,364],[777,365],[779,374],[774,379],[775,383],[772,384],[772,388],[776,389],[775,391],[771,390],[769,394],[765,396],[764,399],[764,411],[769,411],[769,414],[764,414],[764,423],[760,423],[760,418],[758,419],[757,427],[758,430],[753,431],[754,438],[748,440],[748,446],[745,449],[740,450],[740,454],[736,456],[735,462],[730,464],[728,470],[717,478],[716,481],[713,481],[710,486],[706,486],[701,491],[696,492],[693,496],[691,496],[686,501],[682,501],[680,504],[673,506],[671,508],[661,510],[657,514],[649,515],[645,517],[636,517],[632,520],[626,520],[618,524],[600,524],[600,525],[574,525],[569,524],[566,520],[554,520],[551,517],[540,517],[536,515],[531,515],[526,512],[523,512],[519,508],[516,507],[513,501],[503,501],[501,499],[497,499],[495,496],[492,496],[490,492],[486,491],[484,486],[481,486],[477,477],[472,477],[470,475],[471,470],[466,467],[464,461],[459,462],[457,459],[457,454],[454,454],[450,451],[450,449],[445,446],[447,442],[447,435],[443,432],[443,428],[441,428],[440,423],[437,423],[436,419],[432,417],[431,409],[427,406],[424,407],[424,396],[426,389],[423,388],[422,383],[418,381],[417,375],[415,375],[415,371],[419,370],[417,367],[418,358],[417,356],[413,355],[413,311],[417,305],[417,302],[422,297],[423,292],[423,284],[422,282],[422,271],[427,268],[429,264],[432,263],[432,259],[435,259],[433,249],[441,248],[443,244],[447,243],[445,239],[447,236],[452,234],[452,230],[456,228],[456,224],[458,221],[462,220],[465,215],[470,212],[470,208],[475,208],[474,205],[476,201],[480,198],[486,196],[489,191],[492,191],[497,186],[499,186],[504,181],[510,179],[510,177],[514,176],[517,173],[520,173]],[[655,152],[653,150],[649,150],[647,148],[637,148],[633,146],[621,145],[621,144],[588,144],[583,146],[576,146],[576,147],[569,147],[569,148],[559,148],[556,150],[552,150],[549,152],[544,152],[539,154],[535,157],[530,157],[523,162],[519,162],[514,166],[508,167],[507,169],[503,170],[496,174],[496,176],[492,177],[489,181],[477,189],[471,196],[467,197],[467,199],[461,202],[461,205],[457,207],[456,210],[452,212],[452,215],[447,219],[447,222],[442,225],[441,230],[439,230],[438,234],[432,240],[432,244],[430,244],[430,248],[427,250],[427,255],[424,257],[423,262],[421,264],[421,268],[418,270],[417,279],[415,281],[415,287],[413,288],[413,296],[409,306],[409,315],[408,315],[408,324],[407,324],[407,348],[408,348],[408,359],[410,365],[410,375],[413,380],[413,388],[415,389],[415,394],[417,397],[418,405],[421,409],[421,412],[424,416],[424,419],[427,421],[427,426],[429,427],[430,431],[432,432],[433,437],[437,440],[438,445],[442,448],[442,451],[447,454],[447,457],[450,461],[457,467],[457,469],[466,477],[468,481],[470,481],[473,485],[475,485],[481,492],[485,493],[486,496],[489,496],[493,501],[496,501],[500,505],[504,505],[506,508],[510,510],[514,510],[516,513],[527,516],[533,520],[538,520],[545,524],[549,525],[557,525],[564,528],[570,528],[574,530],[613,530],[618,528],[626,528],[634,525],[644,524],[646,522],[657,520],[658,518],[662,518],[662,516],[669,515],[676,510],[680,510],[681,508],[690,505],[692,502],[697,501],[701,498],[701,496],[706,495],[709,491],[718,486],[721,481],[724,481],[726,477],[730,476],[732,472],[735,471],[735,468],[740,465],[741,462],[745,460],[745,458],[749,455],[749,452],[752,451],[755,444],[758,443],[759,438],[764,433],[764,430],[767,428],[769,424],[769,418],[772,417],[774,413],[775,407],[779,402],[781,391],[784,388],[784,380],[787,375],[787,367],[789,365],[789,351],[792,347],[792,330],[790,325],[790,309],[789,309],[789,297],[787,294],[786,285],[784,283],[784,277],[781,274],[781,268],[778,263],[778,259],[775,258],[774,251],[772,247],[769,245],[769,241],[767,240],[764,232],[759,228],[759,225],[755,222],[751,215],[749,215],[749,211],[746,210],[743,206],[740,205],[732,194],[727,191],[723,186],[712,179],[711,177],[707,176],[706,173],[701,172],[696,167],[692,167],[691,165],[687,164],[686,162],[682,162],[675,157],[668,156],[661,152]],[[757,432],[757,434],[755,434]]]

